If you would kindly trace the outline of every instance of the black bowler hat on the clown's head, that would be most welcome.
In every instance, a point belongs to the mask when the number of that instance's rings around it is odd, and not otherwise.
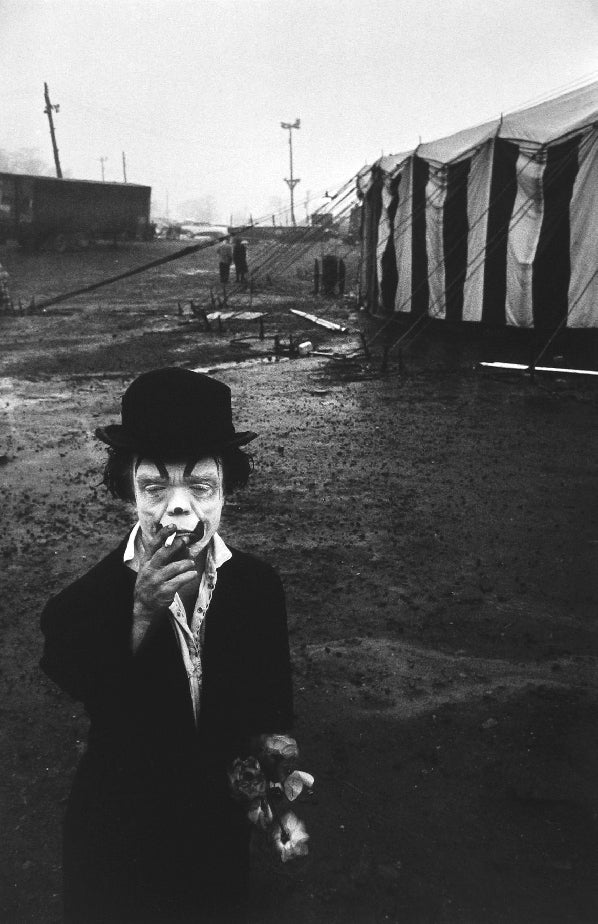
[[[144,372],[131,382],[121,404],[122,424],[96,430],[114,449],[158,459],[198,458],[244,446],[257,436],[235,431],[228,385],[189,369]]]

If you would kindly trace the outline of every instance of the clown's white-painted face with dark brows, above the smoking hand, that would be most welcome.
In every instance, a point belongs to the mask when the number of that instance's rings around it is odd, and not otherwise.
[[[138,459],[133,484],[142,537],[153,539],[160,527],[172,524],[196,558],[220,525],[224,505],[220,464],[205,458],[190,469],[184,462],[158,466],[149,459]]]

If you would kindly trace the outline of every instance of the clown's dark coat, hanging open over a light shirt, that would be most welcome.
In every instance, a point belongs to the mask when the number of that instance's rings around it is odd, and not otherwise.
[[[249,825],[226,769],[250,753],[253,735],[292,725],[282,585],[270,566],[234,549],[219,568],[196,727],[166,613],[131,652],[136,575],[124,548],[42,614],[41,666],[90,719],[64,826],[65,920],[212,920],[211,909],[242,903],[248,871]]]

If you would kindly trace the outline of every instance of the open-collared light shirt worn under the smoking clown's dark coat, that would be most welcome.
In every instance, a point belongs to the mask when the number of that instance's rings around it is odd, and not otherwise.
[[[136,573],[139,571],[141,535],[140,524],[137,523],[127,541],[123,562]],[[187,622],[185,607],[178,593],[174,595],[174,600],[168,607],[170,610],[170,621],[176,635],[183,664],[189,678],[189,693],[193,704],[193,715],[195,724],[199,721],[199,707],[201,701],[201,682],[202,666],[201,655],[204,638],[204,622],[216,581],[218,580],[218,568],[232,557],[232,553],[223,539],[215,533],[208,545],[206,555],[206,564],[204,567],[197,599],[193,607],[191,624]]]

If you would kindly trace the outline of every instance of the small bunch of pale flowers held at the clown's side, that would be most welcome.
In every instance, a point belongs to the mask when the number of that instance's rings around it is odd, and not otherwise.
[[[311,773],[290,769],[298,754],[294,738],[262,735],[257,757],[237,757],[228,774],[234,798],[247,804],[247,817],[268,834],[283,863],[308,852],[305,825],[282,807],[284,800],[294,802],[314,785]]]

